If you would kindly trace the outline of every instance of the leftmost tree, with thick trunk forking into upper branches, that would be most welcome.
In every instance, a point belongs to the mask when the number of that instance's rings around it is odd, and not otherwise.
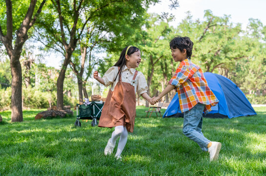
[[[12,96],[11,96],[11,121],[21,122],[23,121],[22,115],[22,76],[21,76],[21,65],[20,65],[20,54],[22,51],[22,46],[28,39],[28,30],[33,26],[41,13],[41,9],[46,0],[42,0],[39,7],[36,6],[37,0],[30,0],[29,7],[25,11],[25,16],[22,22],[20,22],[20,27],[18,23],[14,25],[13,16],[14,11],[18,9],[13,9],[12,3],[21,3],[21,1],[5,0],[6,6],[6,24],[0,24],[0,41],[4,44],[6,52],[10,58],[10,67],[12,75]],[[26,2],[23,2],[28,4]],[[17,13],[20,13],[17,11]],[[34,15],[35,13],[35,15]],[[17,17],[17,16],[16,16]],[[20,17],[18,17],[20,18]],[[17,22],[17,21],[15,21]],[[15,41],[13,40],[15,37]],[[13,43],[15,45],[13,46]]]

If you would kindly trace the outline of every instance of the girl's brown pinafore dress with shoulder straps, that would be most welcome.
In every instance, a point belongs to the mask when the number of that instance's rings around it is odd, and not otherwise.
[[[138,71],[135,71],[133,81]],[[122,82],[121,76],[114,90],[109,89],[102,108],[98,127],[125,126],[128,132],[133,132],[136,116],[136,93],[130,83]]]

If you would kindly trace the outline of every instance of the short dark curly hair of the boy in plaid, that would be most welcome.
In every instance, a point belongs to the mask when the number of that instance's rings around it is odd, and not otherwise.
[[[187,58],[188,59],[191,58],[193,42],[189,39],[189,37],[176,36],[175,38],[171,40],[169,45],[170,45],[170,49],[178,48],[180,51],[183,51],[184,49],[186,49]]]

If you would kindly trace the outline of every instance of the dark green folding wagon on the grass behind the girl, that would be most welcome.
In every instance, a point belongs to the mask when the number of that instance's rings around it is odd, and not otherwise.
[[[75,126],[81,127],[80,119],[92,120],[91,126],[97,125],[97,119],[100,119],[102,114],[104,102],[102,101],[91,101],[89,104],[77,104],[77,120]]]

